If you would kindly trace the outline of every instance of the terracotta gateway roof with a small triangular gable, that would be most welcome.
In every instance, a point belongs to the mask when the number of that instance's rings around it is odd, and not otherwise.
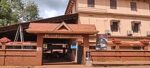
[[[63,24],[63,25],[62,25]],[[65,27],[63,30],[58,27]],[[95,25],[88,24],[50,24],[50,23],[30,23],[26,30],[29,33],[59,33],[59,34],[96,34]]]

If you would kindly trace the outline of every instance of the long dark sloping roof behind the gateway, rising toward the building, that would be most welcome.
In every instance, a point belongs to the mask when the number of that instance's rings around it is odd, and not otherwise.
[[[52,18],[46,18],[46,19],[41,19],[41,20],[36,20],[36,21],[31,21],[34,23],[61,23],[62,21],[65,21],[67,23],[73,23],[76,24],[77,22],[75,20],[78,19],[78,14],[70,14],[70,15],[62,15],[62,16],[57,16],[57,17],[52,17]],[[74,21],[74,22],[70,22]],[[14,25],[10,25],[10,26],[5,26],[5,27],[0,27],[0,34],[1,33],[6,33],[6,32],[11,32],[11,31],[16,31],[18,29],[19,25],[22,25],[23,29],[27,29],[29,24],[31,22],[25,22],[25,23],[21,23],[21,24],[14,24]]]

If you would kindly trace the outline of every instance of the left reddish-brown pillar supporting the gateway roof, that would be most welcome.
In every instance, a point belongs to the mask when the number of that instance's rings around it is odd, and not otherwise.
[[[43,35],[37,35],[37,64],[42,65],[42,54],[43,54]]]

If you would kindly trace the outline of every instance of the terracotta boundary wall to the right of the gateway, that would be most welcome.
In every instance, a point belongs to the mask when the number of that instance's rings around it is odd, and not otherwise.
[[[93,64],[150,64],[150,51],[91,51]]]

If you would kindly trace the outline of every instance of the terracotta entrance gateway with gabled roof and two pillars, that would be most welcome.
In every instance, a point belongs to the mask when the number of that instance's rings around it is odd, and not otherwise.
[[[49,24],[49,23],[31,23],[26,30],[28,33],[37,34],[37,51],[38,63],[42,65],[43,62],[43,44],[44,39],[76,39],[75,41],[82,43],[82,60],[85,63],[86,52],[89,51],[89,35],[96,34],[94,25],[81,25],[81,24]]]

